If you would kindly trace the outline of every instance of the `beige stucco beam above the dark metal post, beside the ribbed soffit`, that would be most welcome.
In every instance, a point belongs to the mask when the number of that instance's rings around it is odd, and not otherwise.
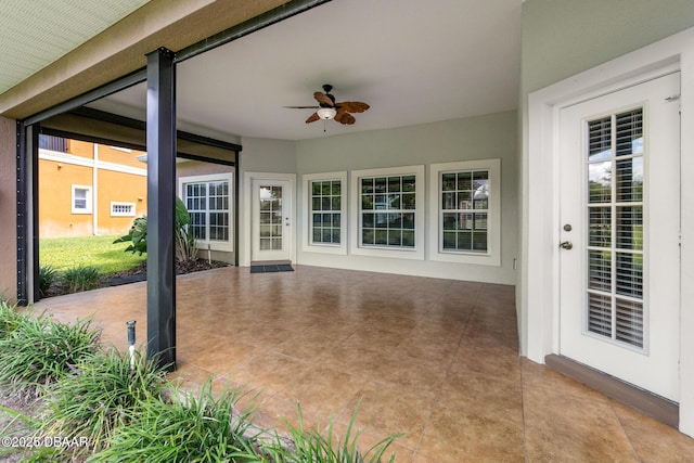
[[[0,94],[0,115],[22,119],[37,114],[142,68],[152,50],[181,50],[285,3],[152,0]]]

